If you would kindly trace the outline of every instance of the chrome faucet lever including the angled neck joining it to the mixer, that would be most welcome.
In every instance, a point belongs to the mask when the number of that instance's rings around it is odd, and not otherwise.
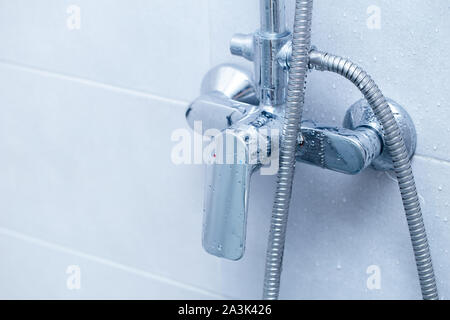
[[[207,165],[203,212],[202,244],[208,253],[229,260],[242,258],[250,178],[275,151],[267,134],[276,124],[273,115],[262,111],[214,138],[218,147],[213,151],[215,162]]]

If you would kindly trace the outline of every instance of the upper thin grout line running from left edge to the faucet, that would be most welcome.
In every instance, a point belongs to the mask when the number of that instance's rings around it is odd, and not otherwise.
[[[137,96],[137,97],[144,97],[144,98],[149,98],[149,99],[154,99],[154,100],[160,100],[160,101],[164,101],[164,102],[169,102],[171,104],[177,104],[177,105],[182,105],[182,106],[185,106],[186,104],[188,104],[187,101],[183,101],[183,100],[172,99],[172,98],[163,97],[163,96],[160,96],[157,94],[148,93],[145,91],[125,88],[125,87],[121,87],[121,86],[107,84],[104,82],[98,82],[95,80],[90,80],[90,79],[80,78],[80,77],[76,77],[76,76],[66,75],[63,73],[48,71],[48,70],[44,70],[44,69],[41,69],[38,67],[28,66],[28,65],[20,64],[20,63],[13,62],[13,61],[7,61],[4,59],[0,59],[0,66],[18,69],[18,70],[22,70],[22,71],[26,71],[26,72],[31,72],[31,73],[35,73],[38,75],[56,78],[56,79],[60,79],[60,80],[72,81],[72,82],[84,84],[87,86],[106,89],[106,90],[110,90],[110,91],[114,91],[114,92],[118,92],[118,93],[125,93],[128,95],[133,95],[133,96]]]

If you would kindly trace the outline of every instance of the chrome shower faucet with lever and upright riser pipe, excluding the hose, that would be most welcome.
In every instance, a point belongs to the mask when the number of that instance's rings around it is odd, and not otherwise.
[[[231,64],[213,68],[203,79],[200,97],[186,112],[191,128],[201,121],[199,134],[214,129],[216,140],[232,142],[228,150],[221,148],[230,161],[206,169],[202,237],[208,253],[230,260],[242,258],[245,250],[251,175],[265,159],[278,160],[279,143],[273,140],[282,127],[292,35],[284,7],[268,3],[262,4],[261,30],[237,34],[230,44],[233,55],[253,62],[253,74]],[[416,148],[414,124],[405,109],[392,100],[389,103],[411,158]],[[302,121],[296,160],[345,174],[357,174],[370,165],[391,170],[383,128],[369,104],[356,102],[344,119],[341,128]]]

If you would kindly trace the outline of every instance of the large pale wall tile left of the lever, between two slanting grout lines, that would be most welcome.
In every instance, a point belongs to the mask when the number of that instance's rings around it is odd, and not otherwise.
[[[0,69],[0,225],[213,289],[203,170],[170,158],[185,105]]]

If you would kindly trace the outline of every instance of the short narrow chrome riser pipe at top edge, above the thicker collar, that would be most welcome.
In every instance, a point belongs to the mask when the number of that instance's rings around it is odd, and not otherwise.
[[[261,33],[285,33],[285,0],[260,0]]]

